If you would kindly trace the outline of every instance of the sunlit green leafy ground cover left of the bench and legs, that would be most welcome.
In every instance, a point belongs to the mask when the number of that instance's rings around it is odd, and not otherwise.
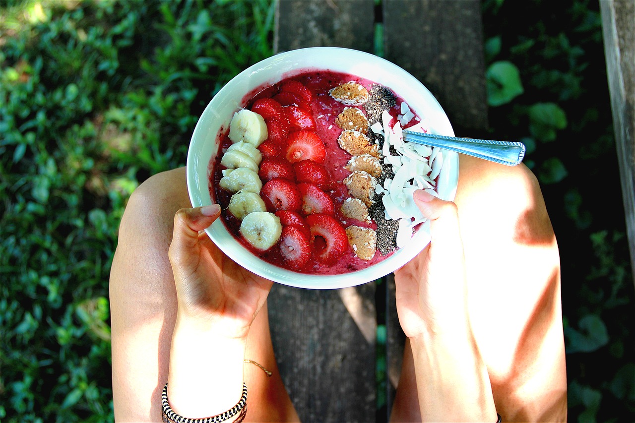
[[[112,421],[108,276],[131,192],[185,162],[272,3],[0,3],[0,419]]]

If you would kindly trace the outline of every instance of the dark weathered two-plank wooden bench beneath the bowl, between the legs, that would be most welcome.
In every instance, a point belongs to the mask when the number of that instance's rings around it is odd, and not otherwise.
[[[378,23],[383,34],[376,34]],[[439,100],[455,133],[487,128],[480,2],[283,0],[277,4],[274,48],[340,46],[375,52],[417,77]],[[276,358],[303,421],[386,421],[401,370],[404,335],[391,276],[342,290],[275,284],[269,317]],[[377,342],[385,324],[385,346]],[[375,358],[387,360],[378,390]],[[377,409],[378,398],[384,403]],[[385,401],[384,401],[385,399]]]

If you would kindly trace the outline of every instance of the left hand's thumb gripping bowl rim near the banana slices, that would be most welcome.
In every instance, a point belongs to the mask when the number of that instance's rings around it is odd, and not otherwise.
[[[220,206],[210,205],[195,208],[182,208],[174,215],[172,248],[187,250],[198,242],[199,231],[209,227],[220,215]]]

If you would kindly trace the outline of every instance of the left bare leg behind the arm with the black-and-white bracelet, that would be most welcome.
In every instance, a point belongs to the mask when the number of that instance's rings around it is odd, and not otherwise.
[[[185,169],[155,175],[133,193],[119,227],[110,271],[112,385],[115,418],[161,421],[161,390],[168,377],[176,292],[168,247],[176,211],[191,207]],[[249,389],[247,420],[291,421],[298,415],[279,375],[267,307],[251,326],[245,358]],[[210,381],[213,383],[213,380]]]

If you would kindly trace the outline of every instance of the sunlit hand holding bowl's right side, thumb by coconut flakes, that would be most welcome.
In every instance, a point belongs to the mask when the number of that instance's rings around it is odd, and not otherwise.
[[[465,258],[455,203],[418,190],[415,203],[430,219],[431,243],[395,272],[399,322],[408,337],[467,330]]]

